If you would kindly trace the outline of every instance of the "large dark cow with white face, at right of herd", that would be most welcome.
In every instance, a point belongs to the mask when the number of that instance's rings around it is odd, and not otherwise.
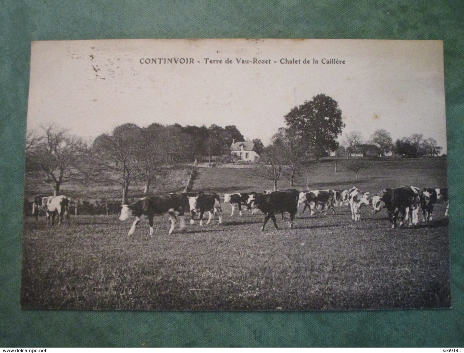
[[[401,186],[399,188],[388,189],[380,199],[374,201],[374,213],[382,208],[387,208],[388,219],[392,222],[392,228],[396,228],[398,214],[401,215],[400,226],[404,225],[409,219],[408,213],[412,215],[412,224],[417,225],[419,217],[417,215],[420,203],[420,195],[416,187]],[[407,209],[407,212],[406,212]],[[411,220],[409,220],[411,226]]]

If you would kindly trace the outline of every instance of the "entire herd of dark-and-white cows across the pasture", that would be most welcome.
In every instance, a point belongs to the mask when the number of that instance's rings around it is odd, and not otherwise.
[[[409,226],[417,225],[419,222],[419,208],[422,209],[424,221],[432,221],[433,205],[438,199],[443,199],[447,203],[445,216],[448,216],[448,189],[424,188],[420,190],[414,186],[401,186],[392,189],[383,189],[380,195],[370,197],[368,192],[362,192],[360,189],[353,187],[349,190],[309,190],[298,191],[296,189],[286,189],[280,191],[265,190],[263,193],[248,192],[225,194],[224,202],[232,206],[232,214],[235,207],[238,207],[239,214],[242,215],[242,205],[254,213],[260,210],[265,214],[261,230],[267,221],[272,219],[274,227],[277,229],[276,214],[290,214],[290,228],[293,227],[298,206],[304,205],[302,213],[309,208],[311,215],[315,214],[316,209],[320,208],[327,214],[332,211],[335,214],[335,206],[350,206],[352,219],[360,220],[361,206],[373,205],[373,213],[380,212],[383,208],[387,209],[388,219],[392,223],[392,228],[396,227],[396,221],[400,216],[400,226],[409,221]],[[64,195],[46,196],[38,195],[35,197],[32,205],[32,214],[38,219],[40,210],[45,210],[47,224],[54,224],[55,216],[58,216],[59,224],[64,219],[69,224],[69,206],[72,200]],[[174,230],[177,219],[180,220],[180,230],[185,228],[184,214],[187,211],[192,216],[190,224],[194,224],[194,219],[198,214],[200,226],[203,224],[203,214],[208,212],[209,218],[206,224],[209,224],[213,214],[219,216],[219,223],[222,223],[222,209],[220,197],[216,193],[206,192],[188,192],[188,193],[170,193],[168,195],[146,196],[130,205],[122,205],[119,219],[125,221],[131,216],[135,216],[135,221],[129,229],[129,235],[134,233],[135,226],[141,221],[142,216],[148,218],[150,235],[153,234],[153,218],[155,215],[169,214],[171,227],[169,234]]]

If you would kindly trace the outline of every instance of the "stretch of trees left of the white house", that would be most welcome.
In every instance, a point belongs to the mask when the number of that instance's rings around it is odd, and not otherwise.
[[[140,127],[126,123],[93,141],[84,141],[50,124],[27,134],[26,174],[53,187],[54,195],[69,181],[116,184],[127,202],[131,183],[143,183],[143,191],[148,193],[182,163],[203,156],[230,156],[234,139],[244,140],[234,125],[153,123]],[[256,142],[262,146],[260,140]]]

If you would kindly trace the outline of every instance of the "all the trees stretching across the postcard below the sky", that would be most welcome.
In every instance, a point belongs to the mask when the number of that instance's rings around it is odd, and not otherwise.
[[[438,156],[442,147],[432,138],[415,133],[397,139],[379,129],[364,141],[360,132],[345,135],[337,141],[345,124],[342,110],[333,98],[319,94],[296,106],[284,116],[285,127],[272,136],[264,147],[253,140],[260,154],[259,162],[249,170],[251,175],[271,180],[274,190],[281,179],[293,186],[296,179],[306,176],[320,158],[335,152],[336,156],[369,155],[383,157],[389,153],[404,158]],[[94,141],[84,142],[66,129],[49,125],[40,132],[29,132],[26,139],[26,173],[41,178],[58,195],[61,184],[71,180],[82,183],[116,184],[121,187],[122,201],[128,199],[129,186],[144,184],[144,193],[156,186],[176,166],[201,160],[204,156],[222,156],[232,161],[232,141],[244,141],[234,125],[221,127],[161,125],[153,123],[140,127],[133,123],[116,126],[111,133],[103,133]],[[366,165],[353,161],[350,170],[356,173]],[[336,171],[336,164],[335,164]]]

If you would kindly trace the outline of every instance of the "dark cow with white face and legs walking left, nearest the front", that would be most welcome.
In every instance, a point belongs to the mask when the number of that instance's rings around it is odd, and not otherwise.
[[[146,196],[130,205],[122,205],[121,207],[120,221],[126,221],[131,216],[135,216],[135,221],[132,223],[128,235],[134,233],[135,226],[140,222],[142,216],[148,217],[150,235],[153,235],[153,217],[155,214],[169,214],[171,228],[169,228],[168,234],[171,234],[174,230],[177,221],[176,216],[180,218],[180,230],[185,228],[184,208],[182,207],[180,195],[177,194]]]

